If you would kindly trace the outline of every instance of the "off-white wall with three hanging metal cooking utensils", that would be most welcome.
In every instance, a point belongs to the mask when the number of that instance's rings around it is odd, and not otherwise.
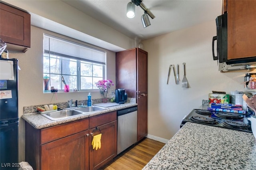
[[[216,36],[215,21],[200,24],[158,36],[144,43],[148,51],[148,134],[170,139],[180,128],[182,118],[208,99],[214,91],[244,91],[246,71],[220,73],[217,61],[212,59],[212,37]],[[170,64],[180,65],[180,81],[183,78],[182,63],[186,63],[189,88],[175,85]]]

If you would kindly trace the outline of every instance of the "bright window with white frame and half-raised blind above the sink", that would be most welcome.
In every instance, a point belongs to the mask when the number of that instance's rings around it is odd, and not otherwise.
[[[43,77],[49,77],[55,89],[64,89],[62,76],[70,89],[98,89],[95,83],[104,79],[106,52],[44,34],[43,62]]]

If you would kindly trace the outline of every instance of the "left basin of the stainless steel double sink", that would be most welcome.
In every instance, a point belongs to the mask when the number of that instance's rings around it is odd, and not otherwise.
[[[55,121],[55,120],[64,119],[67,117],[74,117],[81,114],[83,114],[83,112],[76,111],[73,109],[73,110],[63,110],[63,111],[56,111],[51,113],[44,113],[42,114],[42,116]]]

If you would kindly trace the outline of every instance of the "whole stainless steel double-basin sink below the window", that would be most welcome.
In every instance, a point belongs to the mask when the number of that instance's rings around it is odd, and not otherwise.
[[[90,113],[94,113],[94,112],[102,111],[102,110],[106,110],[106,109],[108,109],[108,108],[98,107],[98,106],[78,107],[78,108],[74,108],[74,109],[71,108],[71,109],[66,109],[66,110],[62,110],[62,111],[44,113],[41,115],[52,120],[52,121],[55,121],[55,120],[59,120],[59,119],[75,117],[78,115],[87,115]]]

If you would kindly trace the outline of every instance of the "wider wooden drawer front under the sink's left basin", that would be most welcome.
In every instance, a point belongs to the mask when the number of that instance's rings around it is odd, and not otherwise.
[[[89,129],[89,119],[48,127],[41,130],[41,144]]]

